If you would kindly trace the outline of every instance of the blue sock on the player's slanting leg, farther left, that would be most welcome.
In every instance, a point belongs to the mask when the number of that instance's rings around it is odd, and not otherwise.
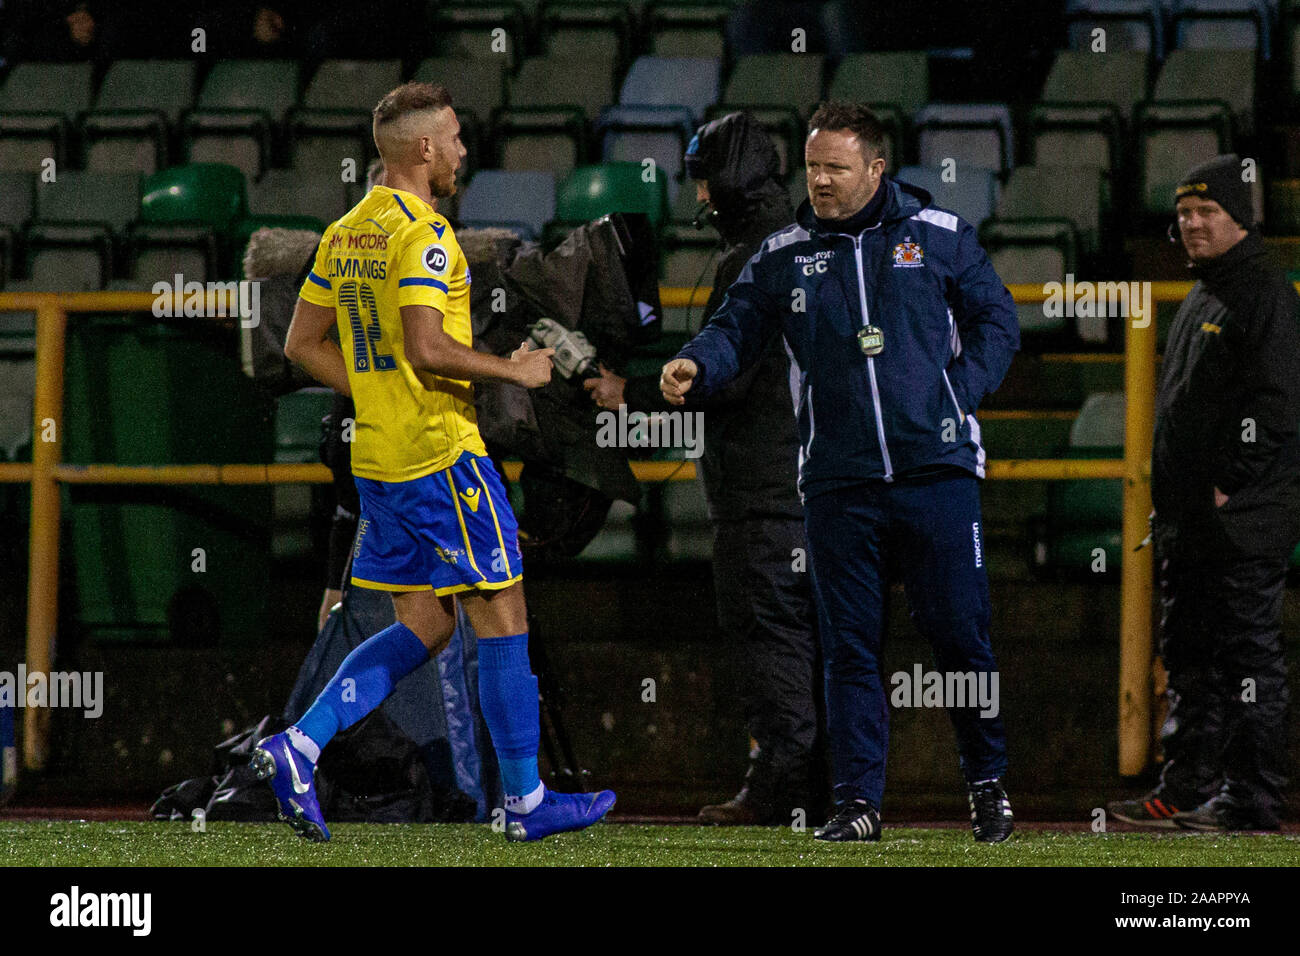
[[[343,658],[295,726],[324,749],[335,734],[380,706],[402,678],[428,659],[429,649],[399,620]]]

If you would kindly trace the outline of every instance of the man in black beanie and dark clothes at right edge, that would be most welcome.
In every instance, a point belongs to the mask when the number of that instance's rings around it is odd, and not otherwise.
[[[1235,155],[1175,194],[1197,282],[1165,346],[1152,522],[1169,671],[1165,766],[1128,823],[1277,830],[1287,756],[1282,597],[1300,541],[1300,297]]]

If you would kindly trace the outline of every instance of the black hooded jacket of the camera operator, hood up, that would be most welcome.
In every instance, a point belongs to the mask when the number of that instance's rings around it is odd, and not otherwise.
[[[699,133],[699,156],[708,172],[712,224],[723,239],[712,293],[703,320],[718,310],[763,239],[794,221],[781,186],[780,159],[763,129],[748,113],[712,121]],[[689,183],[684,186],[689,189]],[[630,378],[624,399],[633,411],[670,406],[659,377]],[[800,436],[790,398],[790,363],[780,334],[745,375],[701,406],[705,451],[699,467],[714,520],[802,518],[796,481]]]

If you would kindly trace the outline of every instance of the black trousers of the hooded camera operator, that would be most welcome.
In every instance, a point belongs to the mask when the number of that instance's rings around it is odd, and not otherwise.
[[[818,644],[806,555],[797,518],[714,524],[718,622],[737,656],[745,722],[758,743],[746,786],[762,814],[811,809],[815,799]]]

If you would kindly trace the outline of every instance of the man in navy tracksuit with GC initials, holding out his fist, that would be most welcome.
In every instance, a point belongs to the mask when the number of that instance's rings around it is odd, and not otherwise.
[[[757,362],[771,334],[784,336],[837,804],[816,836],[870,840],[880,836],[888,744],[880,643],[889,571],[902,576],[937,670],[996,687],[974,412],[1006,375],[1019,328],[975,229],[884,174],[884,135],[870,111],[824,104],[810,129],[810,202],[796,225],[763,242],[660,385],[673,405],[707,397]],[[997,709],[944,702],[975,838],[1006,839]]]

